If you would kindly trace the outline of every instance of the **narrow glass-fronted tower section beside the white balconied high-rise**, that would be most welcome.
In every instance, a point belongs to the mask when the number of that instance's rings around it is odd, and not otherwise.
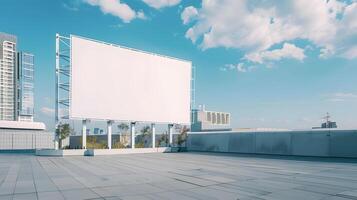
[[[19,53],[19,118],[29,117],[34,114],[34,56]]]

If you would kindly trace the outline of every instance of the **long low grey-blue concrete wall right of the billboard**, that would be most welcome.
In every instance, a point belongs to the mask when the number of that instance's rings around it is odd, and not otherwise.
[[[357,158],[357,130],[192,132],[187,150]]]

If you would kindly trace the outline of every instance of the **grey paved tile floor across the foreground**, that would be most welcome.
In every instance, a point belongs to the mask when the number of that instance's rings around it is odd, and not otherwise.
[[[357,199],[357,161],[213,153],[0,154],[0,199]]]

